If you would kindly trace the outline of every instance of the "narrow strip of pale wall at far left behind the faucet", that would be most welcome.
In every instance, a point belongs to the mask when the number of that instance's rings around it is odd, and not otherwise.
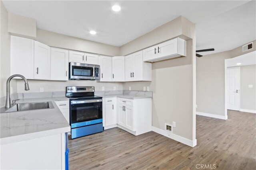
[[[6,96],[6,80],[10,76],[10,34],[8,33],[8,12],[1,3],[1,90],[0,97]],[[11,80],[10,87],[13,89],[13,93],[17,91],[16,80]]]

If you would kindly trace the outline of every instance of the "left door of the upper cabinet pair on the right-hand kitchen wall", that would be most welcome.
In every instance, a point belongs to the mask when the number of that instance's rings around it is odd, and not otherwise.
[[[125,81],[132,81],[134,75],[134,57],[133,54],[125,56]]]

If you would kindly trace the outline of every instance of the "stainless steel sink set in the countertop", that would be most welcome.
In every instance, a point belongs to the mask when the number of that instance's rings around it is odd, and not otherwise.
[[[36,109],[53,109],[52,102],[18,103],[5,112],[28,111]]]

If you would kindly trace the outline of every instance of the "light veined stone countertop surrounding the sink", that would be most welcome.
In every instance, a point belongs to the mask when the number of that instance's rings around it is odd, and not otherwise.
[[[54,108],[1,113],[1,145],[69,132],[70,125],[54,102],[63,100],[69,99],[66,97],[54,97],[20,99],[16,101],[16,103],[52,102]]]

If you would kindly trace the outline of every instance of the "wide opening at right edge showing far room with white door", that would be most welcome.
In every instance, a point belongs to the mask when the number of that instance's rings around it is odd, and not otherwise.
[[[225,60],[227,110],[256,113],[256,51]]]

